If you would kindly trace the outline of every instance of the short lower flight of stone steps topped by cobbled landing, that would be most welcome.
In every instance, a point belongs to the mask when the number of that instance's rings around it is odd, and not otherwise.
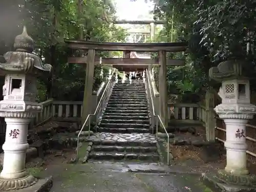
[[[150,133],[96,133],[88,141],[93,142],[88,160],[140,160],[158,162],[156,137]]]

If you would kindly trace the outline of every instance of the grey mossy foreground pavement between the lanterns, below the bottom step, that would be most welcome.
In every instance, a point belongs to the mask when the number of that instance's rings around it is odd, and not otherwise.
[[[51,165],[40,175],[53,175],[51,192],[211,192],[199,175],[171,173],[156,163]]]

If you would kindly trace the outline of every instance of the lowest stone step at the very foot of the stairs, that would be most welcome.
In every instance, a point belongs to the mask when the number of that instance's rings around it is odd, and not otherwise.
[[[158,161],[159,156],[156,153],[126,153],[126,152],[94,152],[89,154],[89,159],[94,160],[142,160]]]

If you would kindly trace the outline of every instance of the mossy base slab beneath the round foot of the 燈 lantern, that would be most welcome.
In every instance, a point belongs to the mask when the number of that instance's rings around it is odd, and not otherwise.
[[[52,188],[53,180],[52,176],[44,178],[44,179],[38,179],[37,183],[23,189],[19,190],[9,190],[10,192],[48,192]]]

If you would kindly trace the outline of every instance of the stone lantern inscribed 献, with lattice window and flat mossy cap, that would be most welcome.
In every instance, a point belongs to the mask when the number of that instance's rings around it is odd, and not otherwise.
[[[228,184],[242,185],[243,191],[255,186],[256,177],[249,175],[246,159],[246,123],[256,113],[256,106],[250,104],[248,75],[249,64],[241,60],[221,62],[209,70],[209,77],[222,83],[219,96],[222,103],[215,112],[226,124],[226,167],[214,177],[205,175],[205,180],[227,190]],[[217,179],[217,180],[216,180]],[[240,191],[240,190],[234,190]]]

